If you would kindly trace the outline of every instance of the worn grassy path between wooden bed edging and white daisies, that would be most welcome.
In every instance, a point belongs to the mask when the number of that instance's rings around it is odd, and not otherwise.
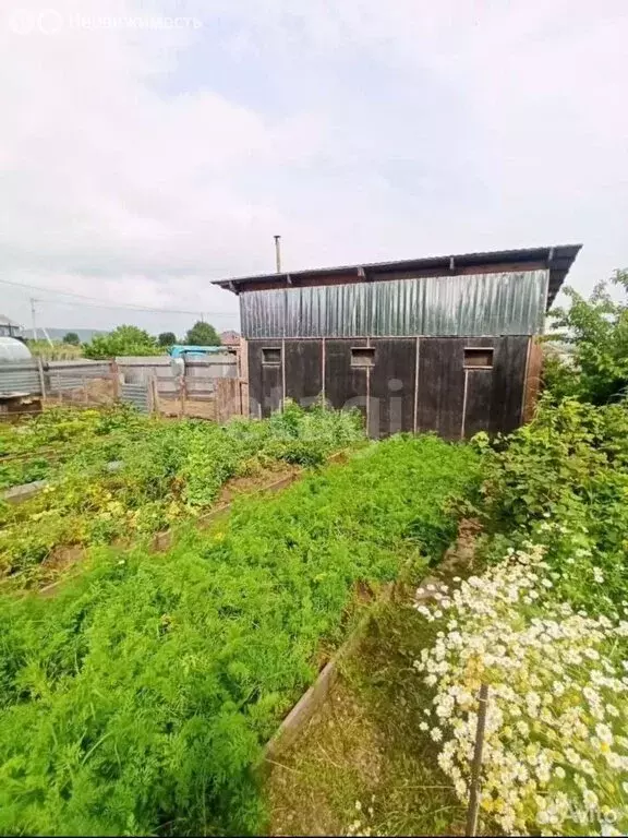
[[[329,699],[273,765],[270,835],[463,834],[438,747],[419,730],[431,694],[412,661],[430,628],[407,606],[378,607]]]

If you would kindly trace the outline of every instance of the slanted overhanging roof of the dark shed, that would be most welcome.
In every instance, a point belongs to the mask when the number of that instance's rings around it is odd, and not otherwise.
[[[573,260],[580,251],[581,244],[559,244],[545,248],[523,248],[519,250],[495,250],[481,253],[462,253],[458,255],[427,256],[424,259],[410,259],[396,262],[373,262],[370,264],[343,265],[340,267],[317,267],[306,271],[293,271],[290,273],[258,274],[227,279],[217,279],[214,285],[240,294],[251,291],[253,286],[289,287],[291,285],[316,285],[318,280],[370,282],[372,279],[386,279],[386,275],[395,275],[410,272],[413,276],[434,276],[436,274],[456,276],[459,274],[480,273],[481,270],[491,272],[520,271],[529,265],[531,271],[546,267],[550,271],[547,284],[547,306],[551,306],[558,294],[560,285],[567,275]],[[499,267],[495,267],[495,266]]]

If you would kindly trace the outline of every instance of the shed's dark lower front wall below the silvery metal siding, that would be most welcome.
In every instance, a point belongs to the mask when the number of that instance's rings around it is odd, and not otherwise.
[[[522,421],[529,342],[524,335],[421,337],[416,378],[414,337],[327,338],[325,346],[319,338],[287,339],[281,366],[263,363],[263,349],[281,340],[249,340],[251,412],[266,417],[279,409],[283,381],[286,397],[304,406],[324,382],[327,403],[358,407],[372,436],[416,430],[457,440],[481,430],[507,432]],[[360,346],[375,349],[374,367],[351,366],[351,348]],[[468,347],[493,347],[492,369],[466,369]]]

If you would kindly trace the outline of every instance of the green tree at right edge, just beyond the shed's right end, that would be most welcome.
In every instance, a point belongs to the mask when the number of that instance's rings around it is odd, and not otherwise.
[[[608,283],[599,283],[585,299],[573,288],[565,294],[571,304],[552,313],[554,327],[564,332],[550,335],[560,340],[567,360],[546,358],[545,385],[558,397],[576,396],[603,405],[626,395],[628,387],[628,271],[617,271],[611,284],[624,290],[624,299],[613,299]],[[552,343],[550,343],[552,346]]]

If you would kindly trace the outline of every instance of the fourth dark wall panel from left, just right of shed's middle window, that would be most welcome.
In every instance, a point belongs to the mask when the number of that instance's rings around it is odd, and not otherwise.
[[[414,426],[415,338],[372,338],[375,366],[371,370],[372,435],[388,436]]]

